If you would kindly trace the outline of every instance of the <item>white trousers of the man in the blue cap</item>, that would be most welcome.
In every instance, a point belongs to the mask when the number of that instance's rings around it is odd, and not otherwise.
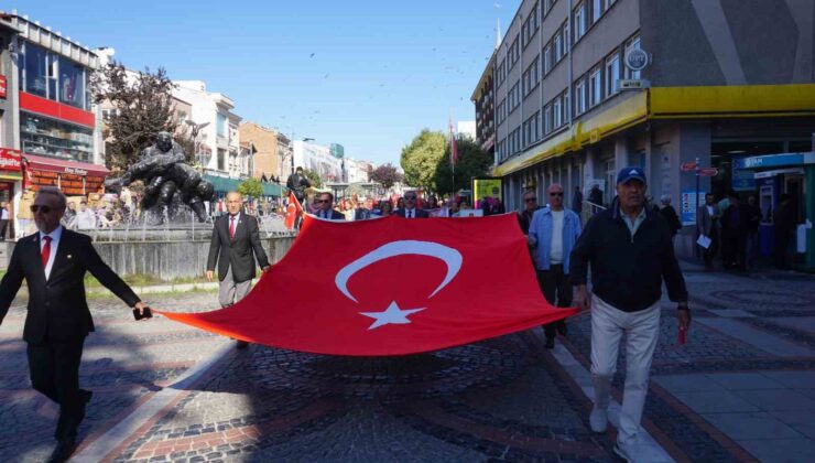
[[[595,405],[608,409],[617,354],[626,333],[626,387],[617,440],[624,443],[640,430],[648,395],[648,376],[660,334],[660,303],[639,312],[623,312],[591,297],[591,380]]]

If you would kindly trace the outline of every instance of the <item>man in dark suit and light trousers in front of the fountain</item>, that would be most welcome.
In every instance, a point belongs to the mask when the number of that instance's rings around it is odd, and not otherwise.
[[[228,308],[249,294],[258,259],[262,271],[269,270],[269,259],[260,244],[258,219],[241,213],[243,197],[238,192],[227,193],[228,214],[218,217],[213,227],[207,258],[207,280],[213,281],[215,263],[218,262],[218,302]],[[254,254],[254,256],[252,256]],[[249,344],[238,341],[238,348]]]

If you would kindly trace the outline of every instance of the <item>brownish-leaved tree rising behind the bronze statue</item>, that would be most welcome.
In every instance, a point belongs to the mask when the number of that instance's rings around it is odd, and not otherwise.
[[[129,168],[156,133],[175,131],[173,87],[163,67],[133,75],[112,62],[91,76],[95,101],[109,100],[116,108],[107,120],[112,137],[106,146],[108,168]]]

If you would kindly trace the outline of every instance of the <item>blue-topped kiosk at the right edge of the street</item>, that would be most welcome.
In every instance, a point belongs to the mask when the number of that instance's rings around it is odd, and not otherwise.
[[[770,257],[778,234],[789,236],[787,261],[804,271],[815,271],[815,152],[756,155],[734,160],[734,168],[752,173],[761,208],[760,252]],[[787,203],[782,204],[786,198]],[[787,208],[793,229],[779,229],[778,208]]]

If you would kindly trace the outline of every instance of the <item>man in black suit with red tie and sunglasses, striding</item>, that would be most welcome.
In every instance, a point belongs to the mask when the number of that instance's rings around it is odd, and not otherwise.
[[[76,449],[77,429],[93,395],[79,389],[83,345],[94,331],[85,299],[85,272],[90,271],[134,308],[134,315],[144,315],[148,309],[101,260],[90,237],[59,225],[65,203],[65,195],[56,187],[44,186],[37,192],[31,212],[40,232],[18,241],[0,282],[0,322],[23,279],[29,288],[23,340],[28,343],[31,385],[59,405],[53,462],[68,460]]]

